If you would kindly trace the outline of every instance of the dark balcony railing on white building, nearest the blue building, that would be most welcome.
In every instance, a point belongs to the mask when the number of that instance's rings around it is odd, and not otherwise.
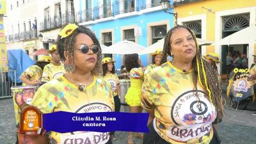
[[[55,15],[54,18],[44,19],[44,22],[40,23],[40,31],[48,31],[51,29],[61,28],[61,26],[74,23],[75,17],[73,12],[65,13],[63,15]]]

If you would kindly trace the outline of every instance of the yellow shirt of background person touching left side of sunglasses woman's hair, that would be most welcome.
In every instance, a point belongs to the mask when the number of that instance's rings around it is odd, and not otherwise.
[[[65,68],[64,68],[63,63],[61,63],[61,65],[59,65],[59,66],[49,63],[48,65],[45,65],[45,67],[44,67],[42,81],[48,82],[48,81],[51,81],[52,79],[56,79],[56,78],[62,76],[63,74],[65,74]]]

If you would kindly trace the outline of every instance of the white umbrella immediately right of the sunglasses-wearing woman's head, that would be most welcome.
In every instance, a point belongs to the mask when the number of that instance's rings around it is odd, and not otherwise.
[[[143,49],[145,49],[145,47],[142,45],[124,40],[111,45],[106,49],[102,49],[102,54],[134,54],[142,51]]]

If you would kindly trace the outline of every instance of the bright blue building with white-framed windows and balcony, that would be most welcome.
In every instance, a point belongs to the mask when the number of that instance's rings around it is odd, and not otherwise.
[[[164,38],[173,27],[173,15],[164,13],[160,0],[78,2],[77,22],[92,29],[103,45],[130,40],[147,47]],[[116,68],[124,65],[124,56],[115,54],[113,58],[116,60]],[[144,66],[151,61],[151,56],[143,55],[140,58]]]

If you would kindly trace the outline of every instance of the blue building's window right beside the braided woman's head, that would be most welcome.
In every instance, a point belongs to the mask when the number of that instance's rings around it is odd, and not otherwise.
[[[152,26],[152,44],[161,40],[166,35],[166,25],[163,26]]]

